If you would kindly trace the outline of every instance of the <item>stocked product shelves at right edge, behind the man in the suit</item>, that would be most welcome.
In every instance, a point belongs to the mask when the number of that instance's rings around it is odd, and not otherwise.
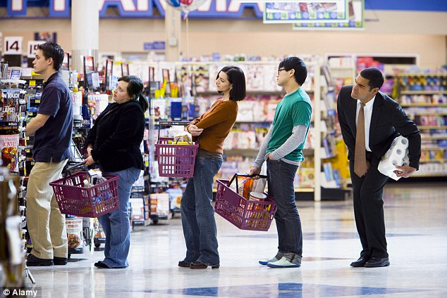
[[[396,79],[398,102],[421,130],[420,169],[412,176],[447,176],[446,70],[410,70]]]

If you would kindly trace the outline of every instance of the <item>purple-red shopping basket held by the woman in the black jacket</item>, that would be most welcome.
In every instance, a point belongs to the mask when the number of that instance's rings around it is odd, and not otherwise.
[[[104,175],[106,181],[86,188],[83,181],[87,176],[86,171],[78,171],[49,183],[62,214],[94,218],[118,209],[119,176]]]

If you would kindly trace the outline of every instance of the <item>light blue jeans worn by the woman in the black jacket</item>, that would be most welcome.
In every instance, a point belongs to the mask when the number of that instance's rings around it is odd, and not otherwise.
[[[105,259],[102,262],[111,268],[128,266],[130,247],[128,205],[130,190],[140,176],[140,172],[141,170],[136,167],[104,172],[104,174],[120,176],[118,179],[118,209],[98,217],[99,224],[106,234]]]

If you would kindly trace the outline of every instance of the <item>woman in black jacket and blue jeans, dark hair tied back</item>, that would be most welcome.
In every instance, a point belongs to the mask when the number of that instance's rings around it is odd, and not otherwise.
[[[98,116],[85,142],[88,155],[84,160],[86,165],[97,162],[103,174],[120,176],[119,208],[98,218],[106,234],[104,261],[94,264],[98,268],[128,266],[130,188],[144,169],[140,144],[145,132],[148,104],[142,91],[143,84],[139,77],[131,75],[118,79],[114,90],[115,103]]]

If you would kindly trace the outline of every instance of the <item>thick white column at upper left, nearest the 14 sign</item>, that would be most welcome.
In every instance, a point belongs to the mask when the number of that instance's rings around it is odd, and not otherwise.
[[[98,63],[99,0],[71,1],[71,56],[73,70],[83,73],[82,57],[93,56]]]

